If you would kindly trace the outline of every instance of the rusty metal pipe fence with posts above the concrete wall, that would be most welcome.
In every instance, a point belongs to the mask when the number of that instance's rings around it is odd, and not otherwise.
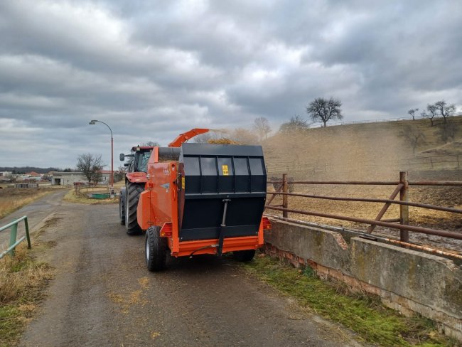
[[[400,230],[400,240],[402,242],[409,242],[409,231],[415,233],[423,233],[428,235],[438,235],[443,237],[451,237],[454,239],[462,240],[462,233],[453,233],[446,230],[438,230],[431,228],[422,228],[413,225],[409,225],[409,206],[418,207],[418,208],[427,208],[431,210],[441,210],[451,213],[462,213],[462,210],[458,208],[446,208],[436,205],[429,205],[424,203],[412,203],[409,202],[409,186],[462,186],[462,181],[408,181],[407,172],[401,171],[399,173],[399,181],[289,181],[287,180],[287,175],[284,173],[282,175],[282,181],[268,181],[268,183],[279,184],[279,187],[275,192],[268,192],[269,195],[272,195],[265,205],[265,208],[268,210],[279,210],[282,212],[282,217],[287,218],[288,213],[296,213],[301,215],[314,215],[317,217],[337,219],[337,220],[347,220],[350,222],[363,223],[369,225],[366,233],[371,234],[377,225],[387,228],[399,229]],[[289,184],[323,184],[323,185],[371,185],[371,186],[396,186],[390,198],[388,199],[377,199],[377,198],[346,198],[338,196],[316,196],[308,195],[301,193],[289,193]],[[275,187],[276,188],[276,187]],[[275,196],[282,196],[281,205],[270,205]],[[394,199],[399,195],[399,201]],[[365,218],[356,218],[345,215],[333,215],[331,213],[321,213],[316,211],[306,211],[306,210],[294,210],[289,209],[288,198],[289,196],[299,196],[304,198],[315,198],[315,199],[327,199],[333,201],[357,201],[357,202],[368,202],[368,203],[385,203],[382,207],[382,210],[377,214],[375,220],[365,219]],[[387,212],[388,208],[392,204],[399,205],[399,218],[394,218],[391,220],[382,220],[382,217]],[[395,224],[399,222],[399,224]]]

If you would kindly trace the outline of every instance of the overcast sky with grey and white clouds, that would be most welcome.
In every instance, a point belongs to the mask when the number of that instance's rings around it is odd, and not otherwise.
[[[462,1],[0,1],[0,166],[273,129],[314,97],[345,121],[462,105]],[[114,166],[119,166],[118,159]]]

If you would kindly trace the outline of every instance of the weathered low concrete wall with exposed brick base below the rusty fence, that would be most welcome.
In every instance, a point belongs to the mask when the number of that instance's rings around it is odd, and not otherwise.
[[[346,235],[345,235],[346,236]],[[345,241],[348,240],[348,242]],[[266,251],[320,277],[378,295],[404,314],[433,319],[462,340],[462,268],[452,260],[340,233],[272,220]]]

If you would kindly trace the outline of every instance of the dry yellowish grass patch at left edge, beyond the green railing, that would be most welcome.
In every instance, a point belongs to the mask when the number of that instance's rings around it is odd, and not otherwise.
[[[54,188],[4,188],[0,189],[0,218],[9,215],[38,198],[56,191]]]

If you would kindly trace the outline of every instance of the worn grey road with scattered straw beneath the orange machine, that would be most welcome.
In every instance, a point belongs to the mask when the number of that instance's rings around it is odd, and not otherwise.
[[[227,258],[148,272],[117,205],[62,203],[46,224],[33,242],[57,273],[21,346],[358,346]]]

